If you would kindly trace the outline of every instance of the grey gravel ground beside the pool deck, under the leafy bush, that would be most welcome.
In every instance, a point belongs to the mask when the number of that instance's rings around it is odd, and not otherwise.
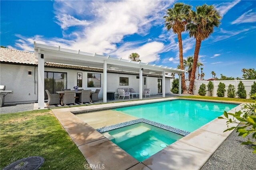
[[[201,170],[255,170],[256,154],[250,146],[240,145],[244,141],[247,139],[233,131]]]

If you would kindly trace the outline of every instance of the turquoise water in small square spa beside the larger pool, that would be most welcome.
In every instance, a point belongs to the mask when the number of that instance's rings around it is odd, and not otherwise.
[[[183,137],[146,123],[115,129],[108,134],[104,135],[140,162]]]

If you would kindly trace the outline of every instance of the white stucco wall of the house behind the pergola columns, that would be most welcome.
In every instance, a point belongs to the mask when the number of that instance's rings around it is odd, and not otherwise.
[[[82,72],[82,88],[95,91],[100,89],[99,98],[103,98],[103,78],[99,72],[85,72],[80,70],[70,70],[63,68],[44,68],[50,72],[66,72],[67,73],[67,88],[73,89],[77,85],[77,73]],[[32,71],[32,75],[28,75],[28,71]],[[101,74],[101,87],[87,88],[87,73]],[[34,102],[38,99],[38,84],[37,84],[37,67],[36,67],[36,94],[34,94],[34,66],[22,66],[14,64],[0,64],[0,84],[6,85],[6,90],[12,90],[13,94],[8,94],[5,102]],[[119,78],[128,77],[129,86],[120,86]],[[146,77],[146,85],[144,85],[144,77]],[[151,89],[151,94],[158,94],[157,77],[143,76],[143,90]],[[139,79],[136,75],[128,74],[107,74],[107,91],[117,92],[117,88],[134,88],[135,92],[139,92]],[[170,93],[170,78],[166,78],[166,93]]]

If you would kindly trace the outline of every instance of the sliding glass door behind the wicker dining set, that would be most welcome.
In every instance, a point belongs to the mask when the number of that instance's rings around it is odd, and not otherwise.
[[[61,89],[67,88],[67,73],[66,72],[44,72],[44,90],[49,90],[51,94]],[[44,98],[48,99],[46,92]]]

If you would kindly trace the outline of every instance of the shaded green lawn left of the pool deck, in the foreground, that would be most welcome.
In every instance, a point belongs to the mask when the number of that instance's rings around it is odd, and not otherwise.
[[[0,124],[0,169],[28,156],[42,156],[42,170],[88,164],[50,109],[1,114]]]

